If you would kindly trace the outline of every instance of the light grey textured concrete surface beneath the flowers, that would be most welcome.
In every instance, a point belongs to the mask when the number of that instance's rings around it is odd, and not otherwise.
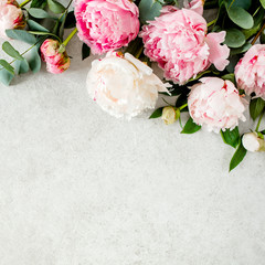
[[[264,155],[229,174],[219,135],[108,116],[80,50],[0,85],[0,264],[265,264]]]

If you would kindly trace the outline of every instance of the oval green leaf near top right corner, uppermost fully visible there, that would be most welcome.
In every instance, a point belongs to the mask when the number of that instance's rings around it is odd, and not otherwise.
[[[229,18],[243,29],[251,29],[254,25],[252,15],[240,7],[227,8]]]

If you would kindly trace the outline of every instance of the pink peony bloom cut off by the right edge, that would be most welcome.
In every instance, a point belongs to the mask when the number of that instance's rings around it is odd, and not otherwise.
[[[265,45],[253,45],[235,66],[235,78],[247,95],[265,99]]]

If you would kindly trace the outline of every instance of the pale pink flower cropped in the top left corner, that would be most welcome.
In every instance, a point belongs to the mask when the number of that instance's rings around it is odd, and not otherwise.
[[[0,0],[0,38],[8,39],[6,30],[23,29],[25,20],[14,0]]]

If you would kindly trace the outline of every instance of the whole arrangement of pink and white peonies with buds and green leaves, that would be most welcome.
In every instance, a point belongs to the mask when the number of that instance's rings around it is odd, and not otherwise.
[[[221,134],[236,149],[230,170],[247,151],[265,151],[265,130],[259,129],[265,113],[265,0],[62,2],[0,0],[2,51],[12,57],[0,60],[4,85],[17,74],[39,72],[41,61],[52,74],[66,71],[71,66],[66,46],[77,33],[82,59],[99,55],[86,84],[91,98],[105,112],[130,119],[153,109],[159,94],[173,96],[173,106],[156,109],[150,118],[161,117],[167,125],[179,120],[182,127],[181,114],[188,112],[181,132],[205,128]],[[203,13],[209,10],[215,18],[206,22]],[[20,53],[11,39],[31,46]],[[155,64],[162,80],[153,73]],[[247,110],[258,121],[255,130],[242,134],[239,125]]]

